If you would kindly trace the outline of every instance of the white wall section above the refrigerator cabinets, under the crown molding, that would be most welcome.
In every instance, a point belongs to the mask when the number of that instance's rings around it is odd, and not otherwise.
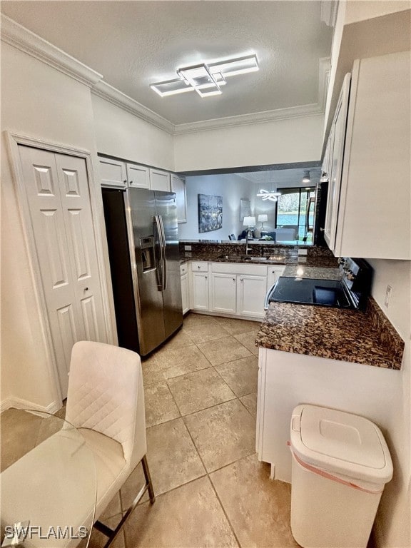
[[[97,151],[174,171],[173,136],[92,95]]]

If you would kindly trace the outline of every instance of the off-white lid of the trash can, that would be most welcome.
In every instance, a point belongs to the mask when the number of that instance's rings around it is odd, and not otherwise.
[[[380,429],[351,413],[298,405],[291,418],[291,447],[310,465],[374,483],[392,478],[392,460]]]

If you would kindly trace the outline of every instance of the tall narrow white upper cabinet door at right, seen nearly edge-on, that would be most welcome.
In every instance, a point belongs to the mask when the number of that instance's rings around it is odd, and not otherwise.
[[[347,126],[348,97],[350,94],[351,74],[345,75],[340,98],[332,126],[332,147],[330,149],[330,182],[328,183],[327,213],[325,215],[324,238],[330,250],[334,250],[337,232],[338,207],[340,205],[340,188],[342,161],[344,159],[345,128]]]

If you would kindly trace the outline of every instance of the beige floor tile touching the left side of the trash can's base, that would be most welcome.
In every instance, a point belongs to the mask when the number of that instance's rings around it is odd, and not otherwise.
[[[290,484],[271,481],[256,455],[210,475],[243,547],[298,547],[290,530]]]

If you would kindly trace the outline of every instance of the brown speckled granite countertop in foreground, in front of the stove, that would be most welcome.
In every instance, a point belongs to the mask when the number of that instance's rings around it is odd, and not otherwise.
[[[270,303],[255,345],[397,370],[404,351],[404,341],[372,298],[366,312]]]

